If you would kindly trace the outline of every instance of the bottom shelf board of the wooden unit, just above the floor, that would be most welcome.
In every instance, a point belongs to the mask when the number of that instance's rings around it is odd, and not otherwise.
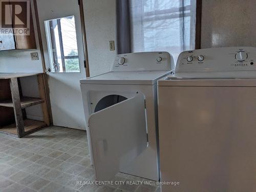
[[[24,119],[25,134],[34,132],[34,131],[41,129],[42,127],[45,127],[45,126],[46,126],[46,123],[44,121]],[[16,123],[12,123],[10,125],[0,127],[0,132],[5,132],[7,134],[17,136]]]

